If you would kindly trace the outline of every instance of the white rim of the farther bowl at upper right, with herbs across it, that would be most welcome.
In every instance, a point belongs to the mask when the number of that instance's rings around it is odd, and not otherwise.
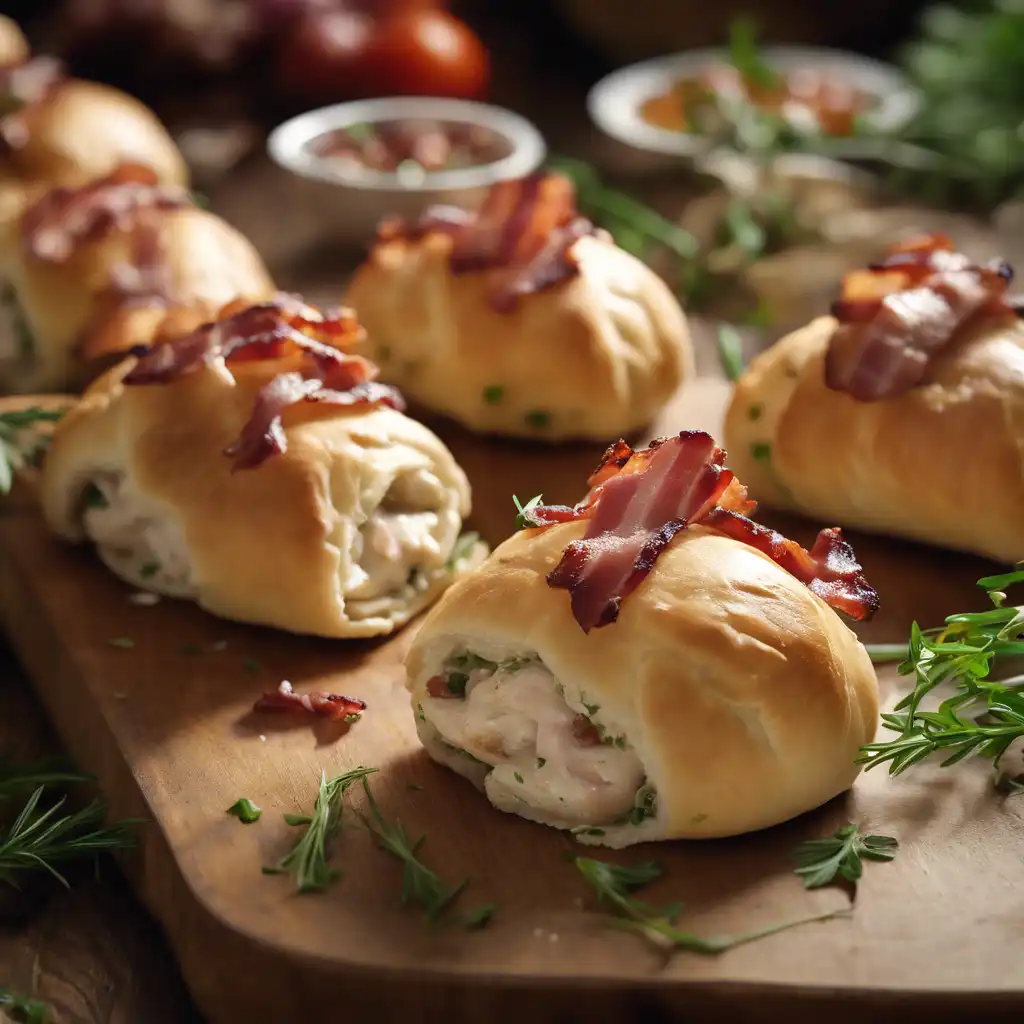
[[[906,124],[921,103],[920,93],[898,69],[857,53],[800,46],[766,46],[761,53],[779,72],[833,74],[874,97],[876,104],[863,118],[881,130],[894,131]],[[630,65],[601,79],[590,90],[587,109],[594,124],[615,143],[612,162],[623,169],[654,169],[699,153],[700,136],[656,128],[643,120],[640,108],[679,79],[726,61],[724,49],[687,50]]]

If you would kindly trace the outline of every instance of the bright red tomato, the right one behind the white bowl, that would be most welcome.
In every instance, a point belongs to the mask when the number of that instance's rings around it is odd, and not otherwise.
[[[368,45],[376,95],[481,97],[490,76],[483,44],[443,10],[395,14],[381,22]],[[365,93],[366,94],[366,93]]]

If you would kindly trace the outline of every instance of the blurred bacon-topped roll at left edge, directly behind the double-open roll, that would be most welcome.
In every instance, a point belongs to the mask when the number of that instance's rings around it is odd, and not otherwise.
[[[131,165],[47,191],[0,227],[0,388],[78,388],[104,360],[238,297],[272,297],[252,245],[177,186]]]

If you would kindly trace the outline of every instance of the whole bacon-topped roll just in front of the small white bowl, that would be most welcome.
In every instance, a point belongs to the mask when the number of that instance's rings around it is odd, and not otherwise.
[[[383,225],[346,303],[387,380],[484,433],[628,435],[692,368],[668,287],[575,213],[557,175],[496,185],[475,215]]]

